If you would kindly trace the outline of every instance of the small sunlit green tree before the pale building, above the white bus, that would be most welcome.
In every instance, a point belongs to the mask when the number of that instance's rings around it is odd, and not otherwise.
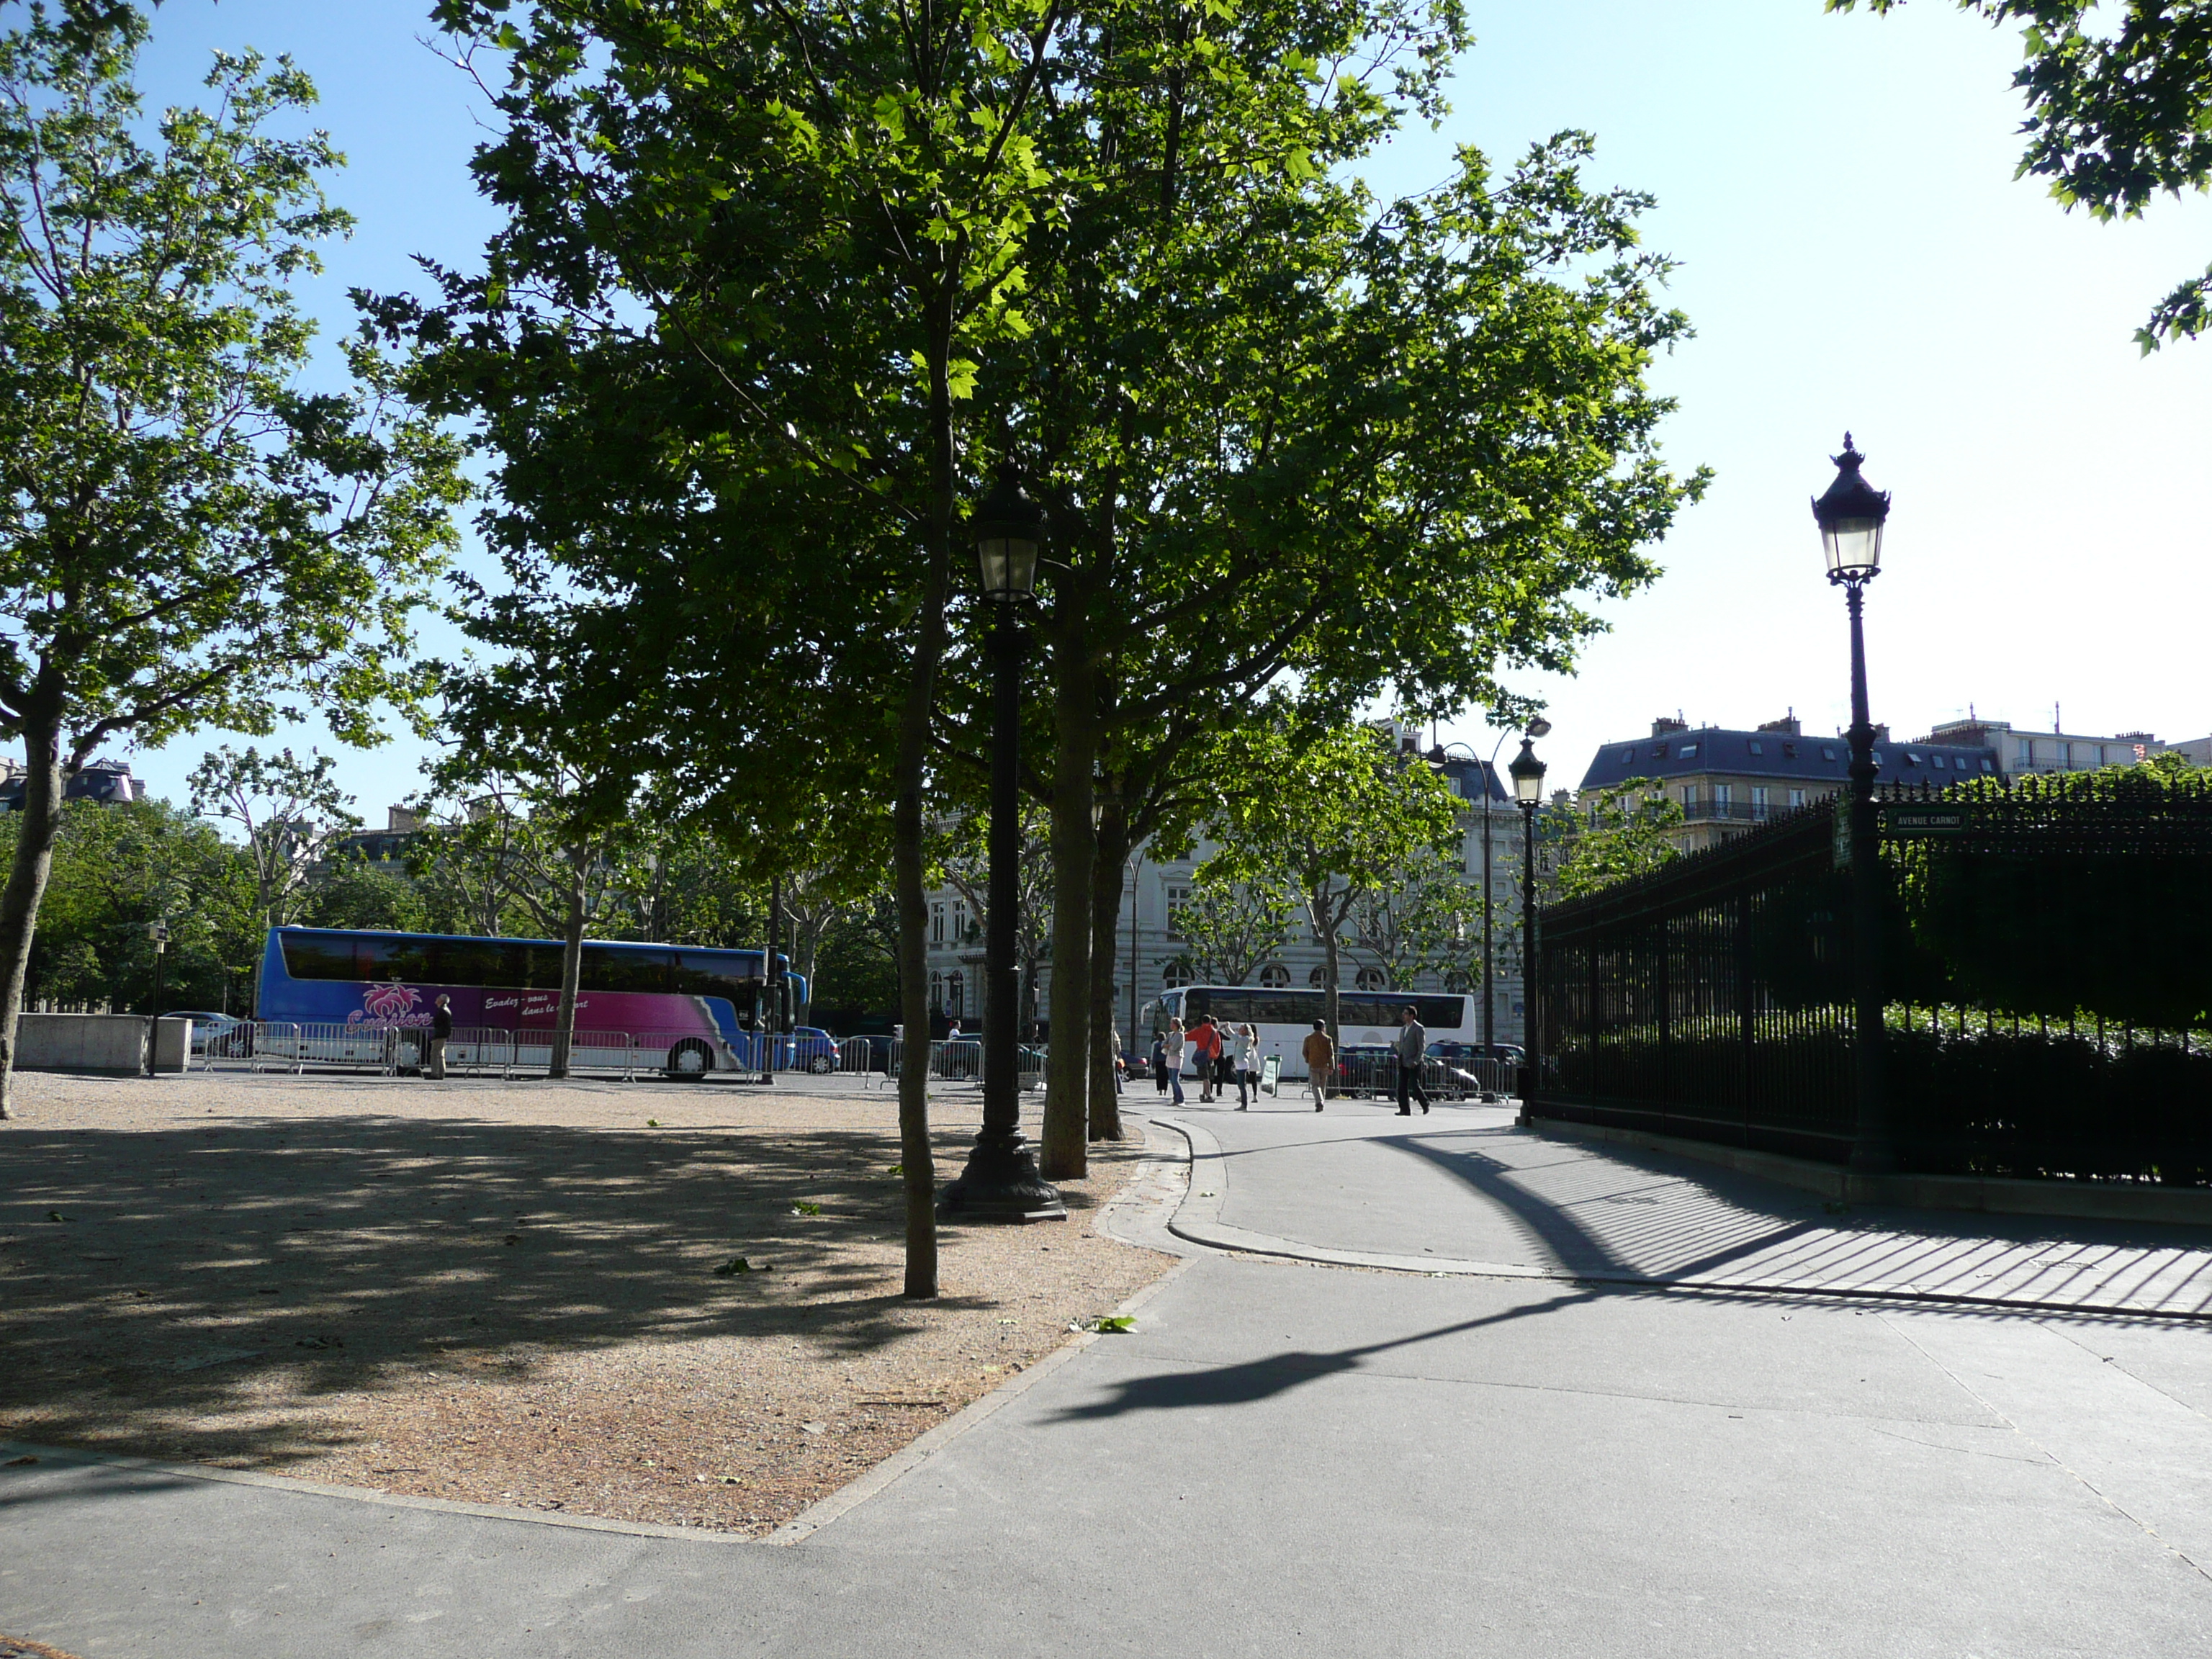
[[[1321,945],[1329,1035],[1352,918],[1391,872],[1458,838],[1458,796],[1420,761],[1394,754],[1367,726],[1316,734],[1274,728],[1234,741],[1239,765],[1265,790],[1230,796],[1206,872],[1279,885]]]

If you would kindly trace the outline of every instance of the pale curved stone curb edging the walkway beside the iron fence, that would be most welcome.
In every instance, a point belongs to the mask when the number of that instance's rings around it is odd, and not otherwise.
[[[1422,1274],[1429,1279],[1537,1279],[1562,1285],[1619,1285],[1624,1290],[1668,1290],[1703,1296],[1794,1296],[1858,1303],[1900,1303],[1918,1307],[1971,1307],[2008,1314],[2073,1314],[2081,1318],[2146,1318],[2168,1325],[2212,1325],[2212,1310],[2128,1307],[2121,1303],[2055,1303],[2024,1296],[1973,1296],[1969,1292],[1900,1290],[1867,1283],[1807,1283],[1796,1279],[1668,1279],[1632,1272],[1571,1272],[1566,1267],[1531,1267],[1517,1261],[1462,1261],[1458,1256],[1387,1256],[1369,1250],[1332,1250],[1272,1232],[1250,1232],[1221,1219],[1228,1201],[1228,1159],[1221,1141],[1199,1124],[1161,1119],[1190,1141],[1190,1194],[1168,1217],[1177,1239],[1245,1256],[1305,1261],[1323,1267],[1369,1267],[1378,1272]]]

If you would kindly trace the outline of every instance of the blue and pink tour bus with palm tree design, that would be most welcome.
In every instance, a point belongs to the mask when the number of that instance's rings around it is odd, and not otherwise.
[[[535,1046],[533,1035],[551,1044],[560,958],[557,940],[538,938],[272,927],[254,1018],[405,1037],[427,1031],[438,998],[449,995],[456,1035],[495,1031],[513,1033],[515,1046]],[[586,940],[575,1029],[622,1033],[633,1053],[672,1077],[759,1071],[770,1044],[781,1068],[834,1071],[834,1040],[792,1029],[805,980],[779,956],[783,1006],[770,1009],[763,962],[763,951]]]

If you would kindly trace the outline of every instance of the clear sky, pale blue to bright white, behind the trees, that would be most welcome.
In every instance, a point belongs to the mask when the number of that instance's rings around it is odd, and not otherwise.
[[[1469,11],[1453,115],[1367,177],[1416,190],[1453,144],[1504,166],[1535,137],[1595,133],[1593,177],[1659,197],[1646,239],[1681,261],[1672,301],[1697,327],[1655,376],[1681,400],[1666,449],[1717,471],[1659,549],[1661,582],[1608,606],[1582,672],[1522,681],[1548,699],[1553,781],[1677,710],[1845,723],[1843,602],[1807,511],[1845,427],[1896,495],[1867,599],[1878,721],[1918,734],[1973,703],[2048,730],[2062,703],[2079,732],[2212,730],[2212,341],[2143,358],[2130,338],[2212,259],[2212,204],[2099,226],[2015,181],[2017,35],[1944,0],[1889,18],[1818,0]],[[420,288],[414,254],[465,261],[493,223],[467,175],[482,95],[420,44],[422,13],[168,0],[155,15],[153,102],[190,95],[212,46],[290,51],[321,86],[319,119],[349,157],[332,192],[361,219],[310,294],[338,330],[347,288]],[[1444,737],[1493,741],[1480,719]],[[181,801],[215,741],[135,765]],[[338,752],[372,821],[416,787],[411,741]]]

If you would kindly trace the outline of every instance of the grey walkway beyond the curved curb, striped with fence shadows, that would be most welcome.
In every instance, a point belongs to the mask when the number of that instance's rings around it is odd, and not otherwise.
[[[2212,1230],[1836,1206],[1504,1106],[1159,1113],[1192,1135],[1190,1239],[1349,1265],[2212,1316]]]

